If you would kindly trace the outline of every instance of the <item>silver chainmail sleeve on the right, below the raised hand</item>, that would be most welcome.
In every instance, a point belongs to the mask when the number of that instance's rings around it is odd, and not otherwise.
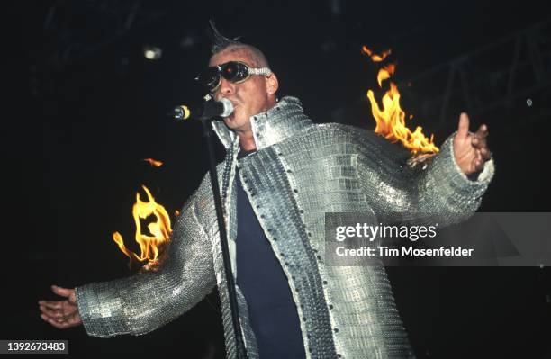
[[[409,152],[401,146],[373,132],[361,136],[358,174],[379,220],[446,226],[467,220],[478,209],[492,180],[493,160],[476,180],[467,178],[456,163],[454,137],[438,155],[411,167],[406,164]]]

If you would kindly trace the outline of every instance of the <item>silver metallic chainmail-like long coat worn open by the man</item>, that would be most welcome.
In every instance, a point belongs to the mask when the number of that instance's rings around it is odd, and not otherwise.
[[[236,166],[257,218],[281,263],[298,310],[308,358],[409,358],[413,352],[382,266],[325,265],[325,212],[357,212],[379,220],[432,213],[449,224],[478,208],[493,175],[461,172],[453,137],[428,166],[405,166],[407,152],[372,131],[313,124],[301,103],[285,97],[250,119],[257,152],[237,159],[239,139],[213,127],[227,149],[219,166],[234,276]],[[408,219],[411,220],[411,219]],[[226,350],[234,358],[228,290],[208,175],[178,217],[166,265],[157,273],[77,287],[91,336],[140,335],[192,308],[218,285]],[[247,302],[238,288],[248,355],[257,358]],[[285,344],[284,344],[285,345]]]

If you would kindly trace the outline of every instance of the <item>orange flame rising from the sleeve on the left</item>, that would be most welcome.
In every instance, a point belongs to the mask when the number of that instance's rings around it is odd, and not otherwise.
[[[132,207],[132,216],[136,224],[135,240],[140,245],[140,256],[124,246],[122,236],[119,232],[113,233],[113,240],[119,246],[122,253],[130,257],[131,261],[129,265],[134,261],[147,261],[148,263],[144,268],[146,270],[156,270],[160,262],[159,253],[163,252],[167,247],[170,235],[172,234],[172,227],[165,207],[155,202],[155,199],[145,185],[142,185],[141,188],[147,194],[148,201],[141,201],[140,193],[138,192],[136,193],[136,203]],[[141,233],[140,219],[145,220],[151,215],[155,216],[156,220],[148,225],[150,236]]]

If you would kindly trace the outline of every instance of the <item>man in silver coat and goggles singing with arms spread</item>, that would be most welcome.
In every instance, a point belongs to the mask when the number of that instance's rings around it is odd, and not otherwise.
[[[239,318],[249,358],[405,358],[414,354],[383,266],[332,266],[324,257],[326,212],[436,213],[441,225],[478,208],[493,175],[482,125],[456,133],[410,168],[369,130],[316,125],[300,101],[277,101],[278,81],[258,49],[213,30],[201,76],[235,111],[213,128],[227,155],[218,166]],[[402,158],[402,157],[400,157]],[[236,356],[228,288],[208,175],[176,221],[158,272],[75,289],[40,301],[56,328],[90,336],[140,335],[190,310],[218,285],[226,353]]]

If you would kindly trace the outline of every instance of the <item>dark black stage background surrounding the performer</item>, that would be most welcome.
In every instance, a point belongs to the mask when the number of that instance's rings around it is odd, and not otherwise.
[[[131,205],[140,184],[170,213],[199,184],[207,170],[200,125],[165,114],[203,95],[193,78],[209,58],[210,18],[263,49],[280,94],[301,98],[316,122],[375,128],[365,94],[377,87],[378,67],[360,49],[392,48],[412,129],[422,125],[440,145],[461,111],[472,130],[488,124],[496,175],[480,211],[550,210],[551,32],[537,2],[8,3],[1,339],[68,339],[75,357],[223,356],[215,292],[142,337],[59,331],[37,305],[54,298],[51,283],[72,288],[133,273],[111,235],[122,232],[136,250]],[[144,58],[144,46],[162,57]],[[165,165],[148,166],[146,157]],[[389,274],[420,358],[551,357],[547,268]]]

